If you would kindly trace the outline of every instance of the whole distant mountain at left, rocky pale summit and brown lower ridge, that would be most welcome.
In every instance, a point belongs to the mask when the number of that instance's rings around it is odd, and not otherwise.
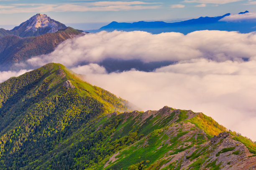
[[[36,14],[12,30],[0,29],[0,71],[19,70],[15,64],[48,54],[64,40],[83,35],[47,15]]]

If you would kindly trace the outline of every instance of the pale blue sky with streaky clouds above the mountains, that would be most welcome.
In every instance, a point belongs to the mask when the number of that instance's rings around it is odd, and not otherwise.
[[[0,25],[18,25],[36,13],[61,23],[171,21],[249,10],[256,0],[0,0]]]

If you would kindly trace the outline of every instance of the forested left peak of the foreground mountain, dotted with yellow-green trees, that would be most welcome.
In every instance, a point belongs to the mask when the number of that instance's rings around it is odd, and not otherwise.
[[[67,80],[72,87],[63,86]],[[127,110],[125,102],[59,64],[10,78],[0,84],[0,169],[36,161],[91,117]]]

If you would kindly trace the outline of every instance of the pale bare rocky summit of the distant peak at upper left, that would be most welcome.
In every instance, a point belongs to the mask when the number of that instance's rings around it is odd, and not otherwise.
[[[67,28],[66,25],[51,19],[46,14],[36,14],[11,31],[18,31],[21,37],[38,36],[48,32],[57,32]]]

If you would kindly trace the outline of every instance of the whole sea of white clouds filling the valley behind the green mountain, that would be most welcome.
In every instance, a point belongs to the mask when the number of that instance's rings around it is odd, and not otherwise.
[[[152,72],[135,69],[108,73],[106,59],[175,61]],[[230,130],[256,140],[256,34],[196,31],[98,32],[66,40],[49,55],[20,64],[64,64],[84,80],[109,90],[142,110],[168,105],[204,112]],[[89,63],[81,65],[81,63]],[[0,72],[0,81],[24,72]]]

